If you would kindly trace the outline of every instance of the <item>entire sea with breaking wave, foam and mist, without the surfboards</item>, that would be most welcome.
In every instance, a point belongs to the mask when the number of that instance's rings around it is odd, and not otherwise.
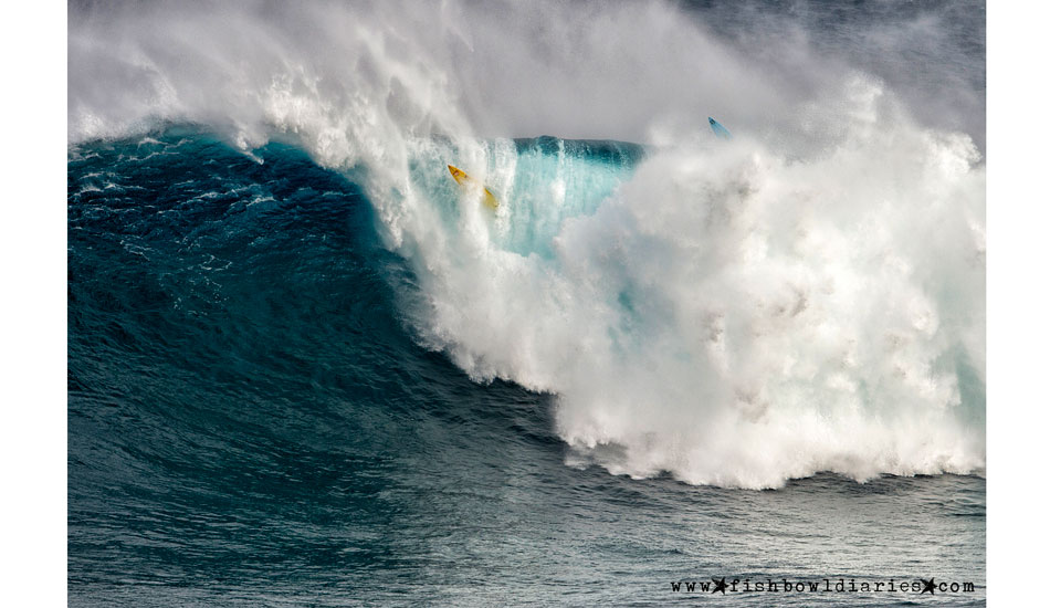
[[[985,605],[984,6],[542,4],[70,6],[71,606]]]

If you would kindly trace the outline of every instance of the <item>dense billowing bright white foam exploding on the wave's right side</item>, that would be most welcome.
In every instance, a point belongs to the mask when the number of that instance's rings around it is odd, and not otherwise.
[[[465,222],[441,242],[472,254],[419,252],[423,335],[557,394],[574,463],[747,488],[981,470],[983,395],[958,378],[983,378],[984,171],[859,86],[825,157],[653,151],[553,259]]]

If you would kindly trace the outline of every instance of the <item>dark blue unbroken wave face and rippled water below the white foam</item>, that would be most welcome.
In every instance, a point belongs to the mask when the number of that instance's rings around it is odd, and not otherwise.
[[[71,605],[659,606],[712,576],[936,576],[977,584],[941,605],[983,605],[984,480],[567,467],[552,397],[417,345],[355,184],[254,155],[192,132],[70,151]]]

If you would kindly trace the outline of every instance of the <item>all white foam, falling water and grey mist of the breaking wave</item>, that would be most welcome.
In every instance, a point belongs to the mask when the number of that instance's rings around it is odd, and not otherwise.
[[[664,2],[72,4],[70,148],[193,125],[359,185],[413,274],[413,339],[550,394],[569,467],[983,474],[983,91],[858,60],[906,63],[930,17],[857,46],[756,44],[754,17],[734,38]]]

